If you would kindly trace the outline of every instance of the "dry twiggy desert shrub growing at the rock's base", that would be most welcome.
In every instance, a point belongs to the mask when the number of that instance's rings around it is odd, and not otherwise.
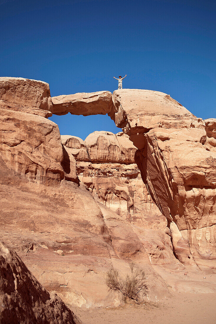
[[[132,299],[136,303],[140,303],[147,291],[146,274],[135,263],[130,263],[130,274],[124,278],[120,276],[118,270],[109,269],[106,284],[109,290],[121,292],[125,302]]]

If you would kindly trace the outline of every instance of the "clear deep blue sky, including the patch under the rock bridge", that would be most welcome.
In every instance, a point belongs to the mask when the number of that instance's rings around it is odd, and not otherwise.
[[[165,92],[216,118],[216,2],[0,0],[0,75],[49,83],[51,96]],[[61,134],[117,133],[108,116],[53,116]]]

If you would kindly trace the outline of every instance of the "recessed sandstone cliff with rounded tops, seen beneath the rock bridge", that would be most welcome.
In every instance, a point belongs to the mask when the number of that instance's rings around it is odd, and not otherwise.
[[[134,162],[137,148],[124,133],[94,132],[85,141],[61,136],[77,162],[77,175],[93,197],[136,226],[167,226],[165,217],[147,192]]]

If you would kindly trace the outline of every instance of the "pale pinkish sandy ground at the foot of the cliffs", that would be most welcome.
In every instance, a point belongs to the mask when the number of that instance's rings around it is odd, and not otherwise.
[[[157,271],[165,279],[171,293],[158,303],[144,302],[140,305],[125,304],[118,308],[72,310],[86,324],[215,323],[216,274],[188,272],[182,265],[177,269],[171,268],[157,266]]]

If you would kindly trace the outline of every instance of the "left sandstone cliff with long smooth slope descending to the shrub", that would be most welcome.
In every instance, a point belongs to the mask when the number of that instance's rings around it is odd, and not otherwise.
[[[95,201],[78,179],[79,161],[47,119],[51,112],[21,99],[0,101],[0,112],[0,237],[40,283],[70,305],[118,306],[121,296],[108,292],[105,274],[110,267],[125,273],[133,260],[148,273],[148,298],[168,295],[133,226]]]

